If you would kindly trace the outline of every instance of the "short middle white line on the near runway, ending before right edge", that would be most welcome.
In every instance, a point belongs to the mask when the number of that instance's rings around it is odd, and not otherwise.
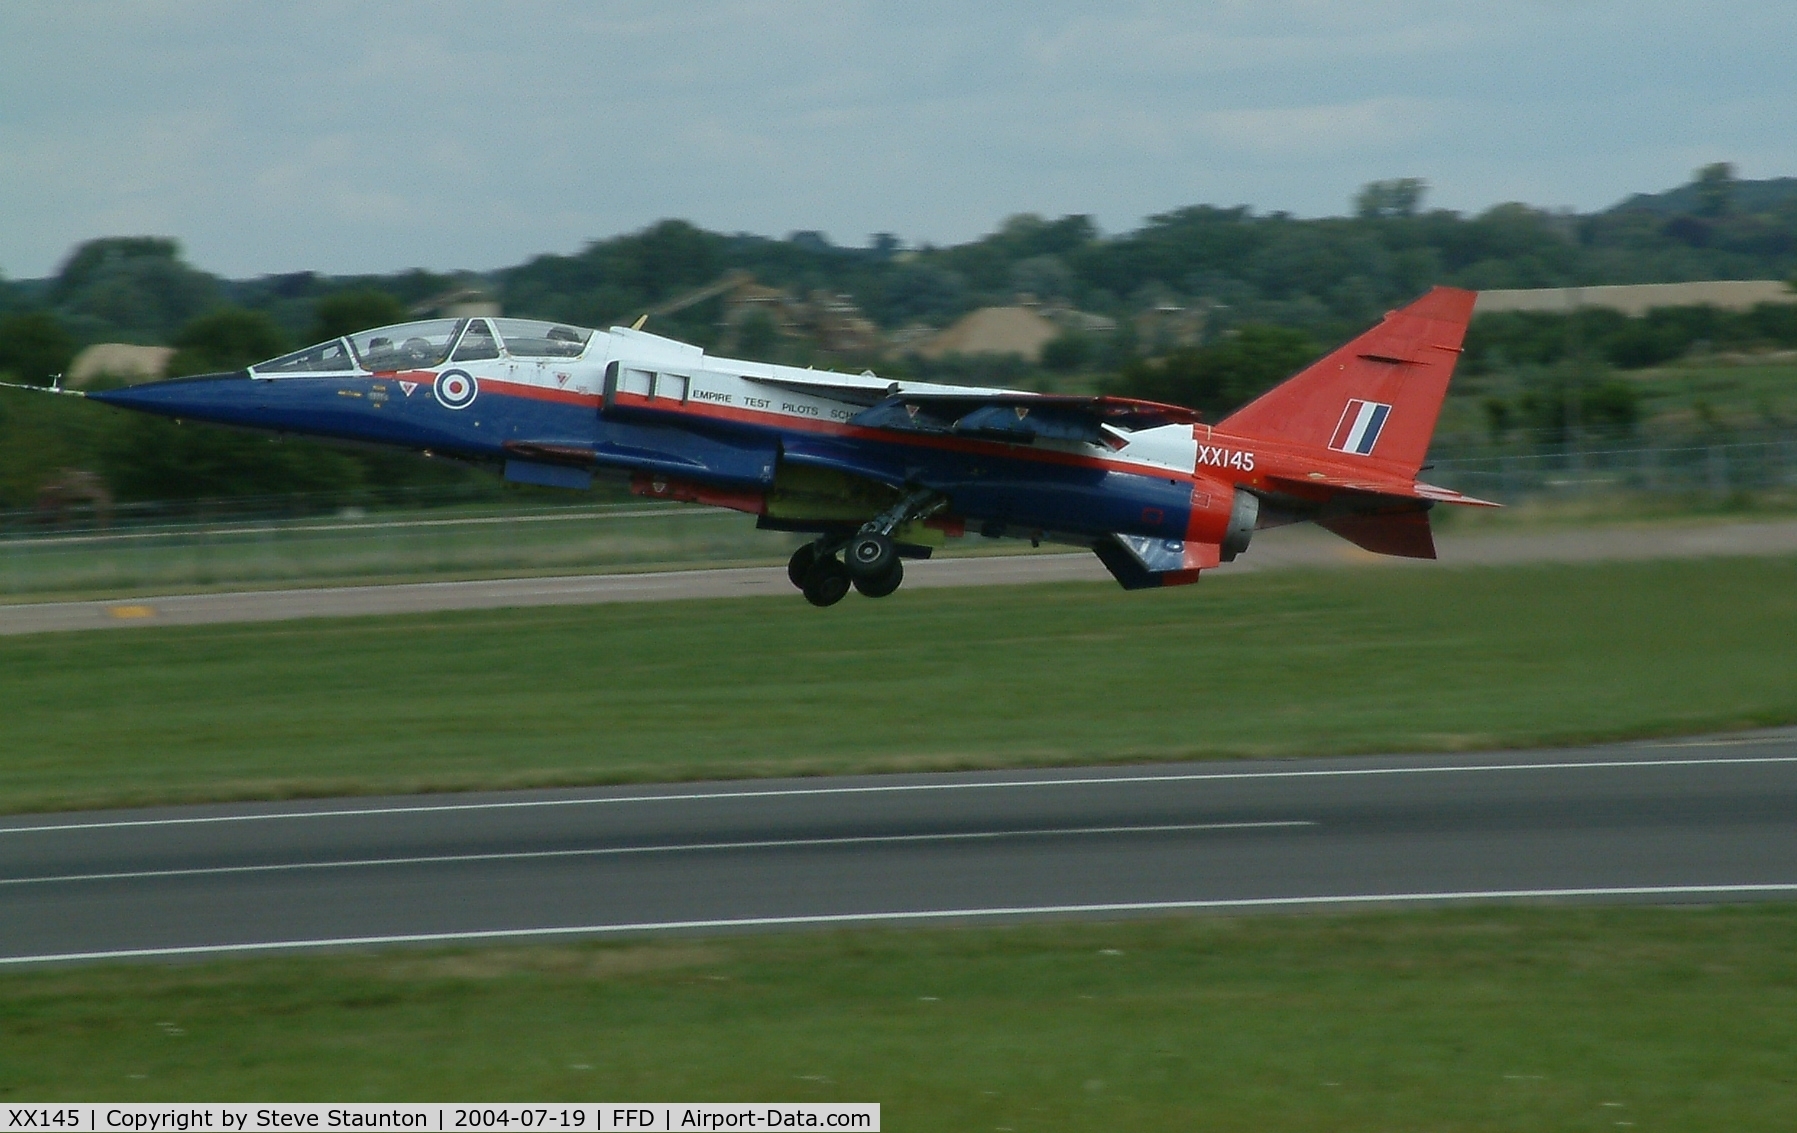
[[[214,865],[201,869],[142,869],[117,874],[61,874],[0,878],[0,885],[54,885],[61,881],[133,881],[144,878],[212,878],[271,874],[300,869],[368,869],[379,865],[438,865],[455,861],[532,861],[543,858],[607,858],[620,854],[697,854],[713,851],[809,849],[828,845],[893,845],[904,842],[994,842],[999,838],[1073,838],[1082,834],[1170,834],[1190,831],[1254,831],[1315,825],[1315,822],[1182,822],[1175,825],[1082,825],[1035,831],[970,831],[960,834],[864,834],[854,838],[769,838],[764,842],[690,842],[674,845],[606,845],[571,851],[518,851],[509,854],[435,854],[419,858],[358,858],[347,861],[280,861],[273,865]]]

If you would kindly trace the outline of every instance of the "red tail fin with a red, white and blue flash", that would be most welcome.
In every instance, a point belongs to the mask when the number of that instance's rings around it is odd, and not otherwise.
[[[1436,288],[1217,428],[1332,448],[1414,477],[1436,432],[1475,299],[1475,291]]]

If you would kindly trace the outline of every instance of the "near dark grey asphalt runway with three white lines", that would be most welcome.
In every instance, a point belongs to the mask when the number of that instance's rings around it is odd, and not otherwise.
[[[1797,730],[22,815],[0,964],[1443,901],[1797,897]]]

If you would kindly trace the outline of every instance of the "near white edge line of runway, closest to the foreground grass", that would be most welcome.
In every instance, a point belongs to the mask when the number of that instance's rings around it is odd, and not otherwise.
[[[1621,885],[1607,888],[1493,888],[1436,894],[1335,894],[1319,897],[1242,897],[1217,901],[1118,901],[1107,905],[1021,905],[1010,908],[924,908],[904,912],[816,914],[796,917],[722,917],[715,921],[645,921],[638,924],[571,924],[566,928],[491,928],[474,932],[420,932],[381,937],[332,937],[322,941],[255,941],[246,944],[189,944],[176,948],[117,948],[65,951],[34,957],[0,957],[0,964],[52,964],[72,960],[147,960],[244,951],[297,951],[304,948],[358,948],[374,944],[456,944],[473,941],[525,941],[539,937],[595,937],[649,932],[703,932],[733,928],[801,928],[807,924],[879,924],[893,921],[954,921],[988,917],[1049,917],[1139,912],[1195,912],[1227,908],[1330,908],[1342,905],[1432,905],[1445,901],[1545,901],[1556,897],[1725,897],[1747,894],[1797,894],[1797,883],[1779,885]]]

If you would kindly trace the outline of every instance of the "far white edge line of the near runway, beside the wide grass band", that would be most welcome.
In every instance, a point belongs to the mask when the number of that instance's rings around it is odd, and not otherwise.
[[[1754,741],[1761,743],[1761,741]],[[1657,745],[1671,746],[1671,745]],[[1691,746],[1691,745],[1682,745]],[[1164,775],[1078,775],[1066,779],[999,779],[952,782],[882,782],[863,786],[767,788],[733,791],[686,791],[665,795],[600,795],[588,798],[516,798],[505,802],[440,802],[422,806],[340,807],[331,811],[264,811],[255,815],[194,815],[181,818],[120,818],[101,822],[63,822],[38,825],[0,825],[0,834],[38,834],[54,831],[102,831],[138,825],[207,825],[214,822],[280,822],[293,818],[356,818],[377,815],[440,815],[455,811],[512,811],[562,806],[622,806],[631,802],[703,802],[706,798],[792,798],[803,795],[882,795],[907,791],[999,791],[1066,786],[1125,786],[1141,782],[1215,782],[1227,779],[1355,779],[1377,775],[1475,775],[1497,772],[1580,772],[1623,768],[1757,766],[1797,763],[1797,755],[1689,757],[1689,759],[1592,759],[1560,763],[1484,763],[1409,768],[1312,768],[1281,772],[1179,772]]]

